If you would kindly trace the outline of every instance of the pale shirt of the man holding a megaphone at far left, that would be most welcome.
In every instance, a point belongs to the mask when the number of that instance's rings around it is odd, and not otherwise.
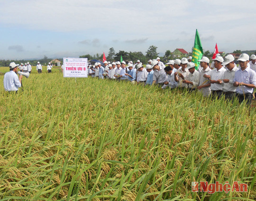
[[[18,88],[21,87],[18,75],[13,70],[4,74],[3,83],[6,91],[17,91]]]

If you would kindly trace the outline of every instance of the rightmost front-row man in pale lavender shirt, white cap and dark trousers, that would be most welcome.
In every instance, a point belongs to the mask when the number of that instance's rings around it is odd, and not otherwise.
[[[235,72],[233,85],[237,87],[236,93],[239,103],[247,101],[247,105],[251,105],[253,89],[256,88],[256,72],[247,66],[249,63],[248,54],[240,54],[238,61],[240,69]]]

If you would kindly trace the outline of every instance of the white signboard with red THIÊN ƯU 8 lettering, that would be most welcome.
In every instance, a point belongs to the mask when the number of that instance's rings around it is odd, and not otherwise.
[[[63,58],[64,78],[87,78],[87,58]]]

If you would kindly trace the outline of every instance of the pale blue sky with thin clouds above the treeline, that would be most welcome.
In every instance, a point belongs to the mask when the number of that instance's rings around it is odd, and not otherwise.
[[[0,59],[256,50],[255,0],[0,0]],[[154,58],[153,58],[154,59]]]

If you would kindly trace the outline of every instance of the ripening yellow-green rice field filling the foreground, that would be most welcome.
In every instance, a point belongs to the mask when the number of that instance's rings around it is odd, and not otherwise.
[[[256,200],[255,108],[35,71],[14,95],[0,76],[1,201]],[[192,192],[201,181],[248,190]]]

